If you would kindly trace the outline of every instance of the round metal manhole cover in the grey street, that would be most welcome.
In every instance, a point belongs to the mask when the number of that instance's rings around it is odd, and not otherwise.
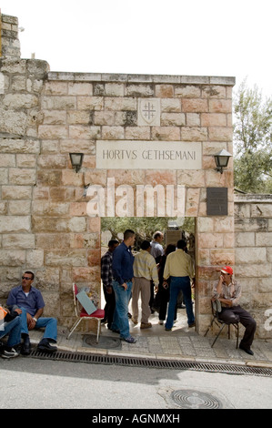
[[[176,405],[183,409],[222,409],[222,403],[209,393],[178,390],[171,393]]]

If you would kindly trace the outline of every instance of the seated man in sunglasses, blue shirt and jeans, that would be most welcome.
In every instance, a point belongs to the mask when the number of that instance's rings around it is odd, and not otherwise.
[[[22,285],[10,291],[6,305],[14,306],[22,310],[20,314],[22,321],[23,344],[21,353],[30,354],[29,331],[33,329],[45,328],[43,339],[38,344],[38,350],[42,352],[56,352],[57,348],[50,344],[56,342],[56,320],[55,318],[43,317],[45,301],[40,290],[32,286],[35,275],[31,271],[25,271],[22,276]]]

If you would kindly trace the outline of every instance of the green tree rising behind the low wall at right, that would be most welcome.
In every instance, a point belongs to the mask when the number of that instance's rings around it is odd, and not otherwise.
[[[272,98],[240,85],[234,97],[235,187],[247,193],[272,193]]]

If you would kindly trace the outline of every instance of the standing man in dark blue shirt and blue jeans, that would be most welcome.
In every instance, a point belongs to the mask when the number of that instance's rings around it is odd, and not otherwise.
[[[127,229],[123,242],[116,248],[113,255],[113,288],[116,295],[116,310],[111,325],[112,331],[119,331],[120,338],[128,343],[135,343],[129,333],[127,318],[128,303],[131,297],[134,256],[131,247],[135,242],[135,232]]]

